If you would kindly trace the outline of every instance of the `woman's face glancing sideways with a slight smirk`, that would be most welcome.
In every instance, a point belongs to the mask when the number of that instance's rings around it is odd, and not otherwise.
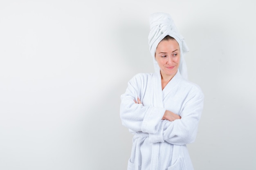
[[[162,40],[155,51],[155,60],[163,78],[173,77],[180,65],[180,46],[173,40]]]

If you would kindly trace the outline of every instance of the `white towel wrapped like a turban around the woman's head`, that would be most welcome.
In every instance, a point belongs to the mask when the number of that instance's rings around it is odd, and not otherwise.
[[[180,66],[179,71],[182,77],[188,78],[186,63],[184,60],[184,54],[189,51],[184,38],[177,31],[177,28],[168,13],[153,13],[150,15],[150,32],[148,35],[148,44],[151,55],[153,56],[155,71],[160,71],[160,68],[155,60],[155,51],[160,41],[164,39],[166,35],[173,37],[180,46]]]

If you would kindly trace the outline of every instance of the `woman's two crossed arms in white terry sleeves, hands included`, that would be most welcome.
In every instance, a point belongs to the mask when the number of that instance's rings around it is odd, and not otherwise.
[[[144,106],[139,97],[141,84],[131,81],[126,93],[121,95],[120,116],[130,132],[148,133],[150,143],[167,141],[184,145],[195,140],[198,122],[202,113],[203,94],[200,89],[190,91],[180,115],[162,107]]]

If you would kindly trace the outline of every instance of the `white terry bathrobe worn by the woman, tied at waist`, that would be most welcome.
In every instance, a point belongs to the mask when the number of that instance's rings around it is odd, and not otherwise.
[[[132,77],[120,105],[122,124],[134,135],[128,170],[193,170],[186,144],[195,141],[203,98],[179,71],[163,90],[160,71]],[[181,119],[162,120],[165,110]]]

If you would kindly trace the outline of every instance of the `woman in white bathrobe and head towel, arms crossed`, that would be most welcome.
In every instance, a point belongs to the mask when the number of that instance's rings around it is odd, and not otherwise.
[[[193,170],[186,144],[195,140],[204,95],[186,80],[188,48],[167,13],[150,16],[148,39],[155,73],[135,75],[121,95],[121,121],[134,134],[128,170]]]

